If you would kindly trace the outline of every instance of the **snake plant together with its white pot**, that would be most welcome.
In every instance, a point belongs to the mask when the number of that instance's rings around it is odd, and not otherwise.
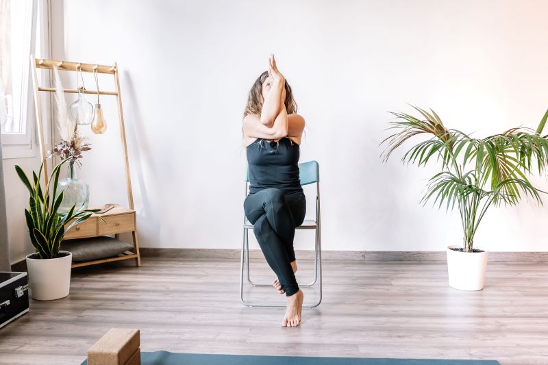
[[[81,210],[75,212],[75,206],[68,214],[58,213],[63,201],[63,192],[57,193],[60,167],[70,159],[63,160],[49,177],[49,181],[42,190],[40,176],[44,162],[40,165],[38,175],[32,172],[32,183],[25,171],[18,164],[15,165],[17,175],[23,181],[30,193],[29,209],[25,209],[25,218],[29,235],[36,253],[27,255],[27,270],[29,284],[34,299],[47,301],[60,299],[69,295],[71,286],[72,253],[60,251],[64,234],[75,225],[88,219],[92,213],[99,210]],[[51,178],[53,177],[53,194],[49,194]],[[76,220],[65,229],[71,220]]]

